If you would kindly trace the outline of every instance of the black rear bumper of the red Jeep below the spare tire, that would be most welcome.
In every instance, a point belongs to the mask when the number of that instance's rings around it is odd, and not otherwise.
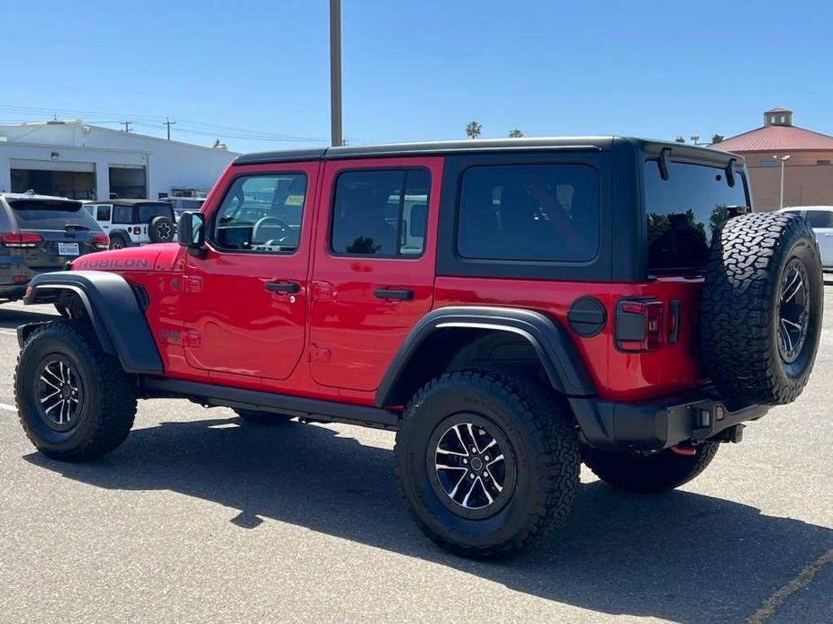
[[[733,405],[713,388],[618,403],[570,399],[585,441],[598,449],[661,450],[712,438],[736,424],[756,420],[770,406]]]

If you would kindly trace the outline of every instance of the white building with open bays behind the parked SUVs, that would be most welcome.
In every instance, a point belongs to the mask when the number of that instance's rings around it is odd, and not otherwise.
[[[85,124],[53,120],[0,125],[0,192],[78,200],[153,199],[208,191],[239,156]]]

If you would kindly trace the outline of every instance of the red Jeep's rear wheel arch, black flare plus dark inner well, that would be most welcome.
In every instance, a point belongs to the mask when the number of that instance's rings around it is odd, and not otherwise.
[[[400,345],[376,391],[376,406],[400,406],[429,379],[475,361],[537,361],[552,388],[592,397],[595,384],[566,330],[522,308],[438,308],[423,316]]]

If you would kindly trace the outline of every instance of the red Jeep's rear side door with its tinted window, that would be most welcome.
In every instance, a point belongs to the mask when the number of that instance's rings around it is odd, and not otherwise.
[[[312,270],[312,378],[373,391],[433,299],[442,158],[329,161]]]

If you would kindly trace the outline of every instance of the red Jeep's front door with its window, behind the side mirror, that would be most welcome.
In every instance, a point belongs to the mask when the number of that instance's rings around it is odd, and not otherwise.
[[[184,278],[192,367],[286,379],[301,360],[319,166],[233,167],[204,207],[207,253]]]

